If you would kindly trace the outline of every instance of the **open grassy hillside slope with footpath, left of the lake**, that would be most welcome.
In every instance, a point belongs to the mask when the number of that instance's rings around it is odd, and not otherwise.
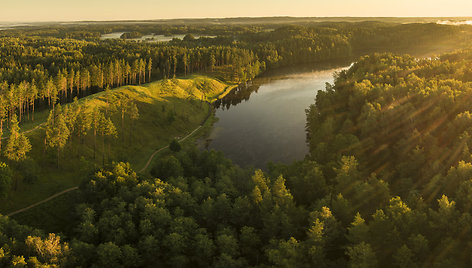
[[[185,79],[159,80],[142,86],[124,86],[81,99],[80,104],[87,110],[95,107],[105,109],[107,94],[124,94],[135,101],[140,117],[135,122],[125,119],[123,138],[121,119],[119,115],[113,115],[112,120],[120,136],[107,141],[105,151],[102,149],[103,139],[97,137],[95,159],[92,132],[83,143],[72,137],[61,153],[59,168],[55,164],[56,151],[44,147],[44,127],[28,133],[33,145],[29,157],[39,167],[38,180],[28,184],[21,178],[17,179],[8,198],[0,202],[0,213],[8,214],[79,185],[102,165],[104,155],[105,163],[126,161],[135,170],[140,170],[156,149],[168,145],[175,137],[184,137],[202,123],[209,109],[202,100],[213,101],[227,94],[231,88],[232,86],[216,79],[193,75]],[[22,131],[44,122],[48,113],[49,111],[41,111],[35,114],[35,122],[23,124]],[[173,120],[169,119],[170,114],[173,114]],[[21,216],[15,216],[20,219],[19,217]],[[25,221],[26,224],[32,222]]]

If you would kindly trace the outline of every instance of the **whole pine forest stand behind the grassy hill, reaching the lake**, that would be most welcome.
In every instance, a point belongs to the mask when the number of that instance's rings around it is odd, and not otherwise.
[[[141,84],[225,67],[231,81],[251,79],[265,64],[249,50],[184,48],[122,41],[3,38],[0,46],[0,121],[34,120],[35,108],[53,108],[105,88]]]

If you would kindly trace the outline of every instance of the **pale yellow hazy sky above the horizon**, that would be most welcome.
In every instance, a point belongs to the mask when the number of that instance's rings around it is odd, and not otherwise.
[[[471,0],[0,0],[0,21],[472,16]]]

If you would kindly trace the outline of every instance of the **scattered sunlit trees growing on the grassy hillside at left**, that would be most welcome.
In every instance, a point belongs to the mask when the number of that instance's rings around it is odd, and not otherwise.
[[[104,99],[106,103],[103,107],[79,103],[77,98],[64,107],[60,104],[55,105],[44,123],[45,133],[33,136],[34,139],[43,139],[42,142],[36,140],[35,146],[39,145],[39,148],[34,148],[36,152],[41,152],[42,159],[37,155],[35,158],[29,156],[33,149],[32,142],[25,132],[20,130],[18,118],[13,113],[8,137],[5,141],[0,140],[0,154],[9,165],[1,164],[5,165],[7,170],[12,167],[14,172],[8,171],[4,176],[0,175],[0,197],[6,197],[12,187],[16,188],[19,178],[27,184],[35,183],[38,178],[36,173],[40,169],[38,162],[43,164],[48,162],[49,150],[56,151],[56,166],[59,168],[60,159],[64,158],[61,157],[61,153],[67,145],[69,149],[75,148],[68,152],[68,160],[77,157],[85,161],[87,156],[94,163],[101,165],[111,162],[113,158],[111,144],[118,146],[114,142],[116,139],[120,138],[120,147],[130,146],[131,128],[140,116],[135,101],[127,95],[110,94],[108,91]],[[3,134],[2,122],[0,121],[0,134]],[[84,143],[86,139],[93,144],[90,146],[93,148],[93,153],[87,154],[81,150],[81,147],[86,147]],[[101,152],[101,155],[97,152]]]

